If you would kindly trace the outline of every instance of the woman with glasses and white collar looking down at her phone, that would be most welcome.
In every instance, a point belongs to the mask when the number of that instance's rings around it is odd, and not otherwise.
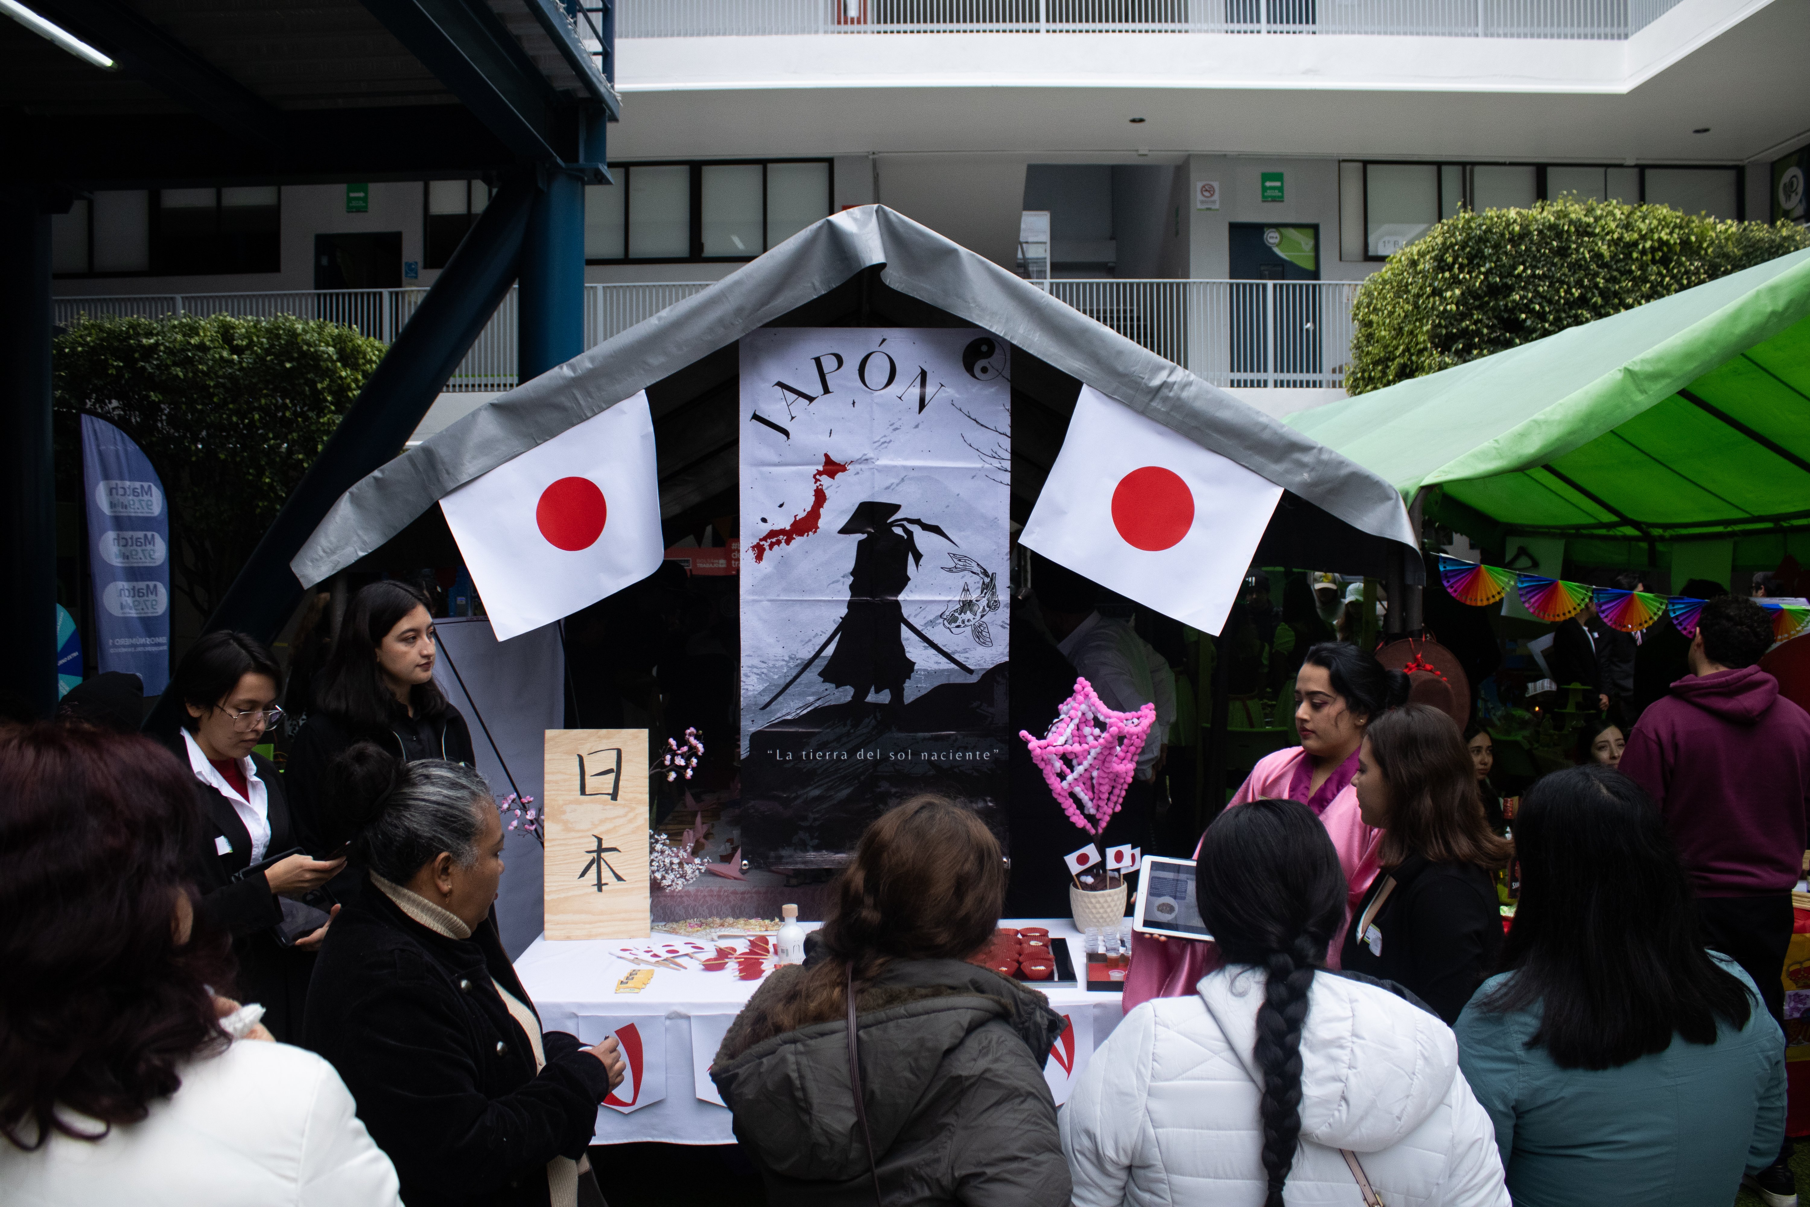
[[[326,937],[324,925],[297,932],[310,917],[299,898],[346,860],[299,851],[277,769],[253,749],[282,717],[270,650],[244,633],[208,633],[190,646],[168,689],[185,713],[170,749],[194,773],[201,811],[194,863],[201,919],[232,934],[239,997],[264,1006],[264,1026],[290,1042],[300,1035],[313,952]],[[295,854],[250,870],[288,851]]]

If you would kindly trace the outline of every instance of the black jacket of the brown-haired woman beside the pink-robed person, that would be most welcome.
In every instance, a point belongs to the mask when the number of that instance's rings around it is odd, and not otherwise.
[[[1388,876],[1396,878],[1396,890],[1370,923],[1379,932],[1372,952],[1358,934],[1358,921]],[[1490,872],[1410,856],[1370,885],[1345,932],[1339,966],[1403,984],[1452,1024],[1495,970],[1500,950],[1502,910]]]

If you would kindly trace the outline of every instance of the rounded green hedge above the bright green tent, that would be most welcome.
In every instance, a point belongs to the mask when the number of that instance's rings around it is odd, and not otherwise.
[[[1658,204],[1540,201],[1461,212],[1358,291],[1352,394],[1605,318],[1810,246],[1790,223],[1729,223]]]

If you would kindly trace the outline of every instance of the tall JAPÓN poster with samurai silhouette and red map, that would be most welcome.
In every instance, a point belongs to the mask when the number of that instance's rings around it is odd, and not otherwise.
[[[742,841],[827,863],[936,791],[1005,838],[1006,346],[974,328],[742,337]]]

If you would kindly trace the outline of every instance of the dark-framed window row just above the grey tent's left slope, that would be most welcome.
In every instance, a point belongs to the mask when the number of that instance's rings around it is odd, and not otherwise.
[[[610,165],[585,188],[590,264],[751,261],[831,212],[829,159]]]

